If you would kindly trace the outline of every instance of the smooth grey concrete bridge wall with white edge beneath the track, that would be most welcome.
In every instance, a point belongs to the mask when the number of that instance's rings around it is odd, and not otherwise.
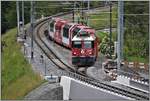
[[[131,100],[123,95],[66,76],[62,76],[60,85],[65,88],[63,90],[64,100]]]

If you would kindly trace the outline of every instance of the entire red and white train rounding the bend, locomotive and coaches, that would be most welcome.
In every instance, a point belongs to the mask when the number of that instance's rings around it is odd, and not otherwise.
[[[95,63],[98,42],[93,28],[55,17],[48,22],[48,36],[71,49],[72,65],[89,66]]]

